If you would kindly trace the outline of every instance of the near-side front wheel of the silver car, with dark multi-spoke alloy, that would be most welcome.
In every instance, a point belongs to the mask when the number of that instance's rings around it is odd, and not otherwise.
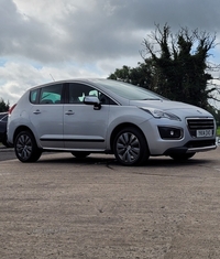
[[[134,127],[118,132],[113,141],[113,152],[123,165],[140,165],[150,157],[143,133]]]

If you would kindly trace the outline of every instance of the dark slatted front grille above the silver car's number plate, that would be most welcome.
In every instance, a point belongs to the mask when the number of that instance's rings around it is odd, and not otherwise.
[[[187,126],[191,137],[196,138],[197,130],[215,130],[215,120],[213,119],[187,119]]]

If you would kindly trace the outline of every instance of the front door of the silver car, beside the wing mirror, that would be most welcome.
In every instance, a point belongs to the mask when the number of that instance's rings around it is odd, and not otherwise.
[[[105,150],[109,120],[109,105],[94,109],[85,105],[85,96],[99,96],[91,86],[69,83],[67,104],[64,105],[64,143],[67,149]]]

